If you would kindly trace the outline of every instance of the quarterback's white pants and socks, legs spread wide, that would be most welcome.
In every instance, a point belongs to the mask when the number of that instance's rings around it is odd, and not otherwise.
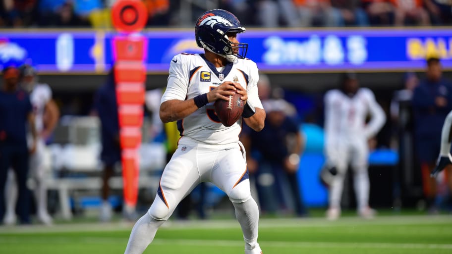
[[[212,182],[226,193],[242,228],[245,253],[259,254],[259,209],[250,194],[244,151],[239,142],[220,146],[180,139],[163,171],[154,202],[130,233],[125,254],[143,253],[177,204],[201,182]]]

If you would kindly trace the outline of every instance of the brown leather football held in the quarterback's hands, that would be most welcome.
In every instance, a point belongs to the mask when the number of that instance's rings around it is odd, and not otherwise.
[[[228,91],[235,92],[232,89]],[[229,96],[228,101],[217,100],[214,103],[215,113],[226,127],[234,124],[242,116],[245,101],[241,100],[240,97],[240,94],[235,93]]]

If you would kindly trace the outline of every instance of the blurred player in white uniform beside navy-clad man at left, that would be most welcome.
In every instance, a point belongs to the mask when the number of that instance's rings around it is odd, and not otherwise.
[[[30,155],[30,176],[35,181],[34,196],[36,200],[36,211],[39,221],[45,224],[52,223],[52,217],[47,211],[47,188],[45,186],[43,168],[43,152],[45,149],[45,140],[51,135],[56,126],[59,117],[59,110],[52,100],[52,90],[47,84],[37,83],[36,70],[29,65],[23,65],[21,71],[21,88],[30,93],[30,101],[35,113],[36,132],[39,135],[36,144],[36,152]],[[29,138],[30,139],[30,138]],[[9,171],[8,182],[6,185],[6,213],[4,216],[5,224],[15,223],[15,204],[17,202],[17,186],[14,174]]]

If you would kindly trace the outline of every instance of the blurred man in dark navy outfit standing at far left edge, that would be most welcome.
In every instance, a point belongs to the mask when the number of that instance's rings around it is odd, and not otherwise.
[[[3,86],[0,90],[0,219],[4,215],[5,183],[9,168],[17,179],[18,197],[7,196],[15,218],[15,204],[22,224],[30,224],[30,199],[27,189],[29,154],[36,152],[38,135],[35,114],[28,94],[19,88],[19,69],[8,66],[3,69]],[[26,126],[30,130],[30,146],[27,145]],[[13,198],[14,202],[9,203]],[[9,209],[9,208],[8,208]],[[6,221],[7,222],[7,221]],[[14,221],[15,222],[15,219]]]

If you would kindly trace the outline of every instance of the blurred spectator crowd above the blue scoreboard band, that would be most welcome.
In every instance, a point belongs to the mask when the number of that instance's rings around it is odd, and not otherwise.
[[[0,27],[109,28],[115,1],[3,0]],[[192,20],[182,16],[195,19],[205,11],[199,0],[143,2],[147,27],[184,27]],[[181,15],[185,3],[191,8]],[[444,26],[452,18],[452,2],[444,0],[220,0],[215,5],[247,27]]]

